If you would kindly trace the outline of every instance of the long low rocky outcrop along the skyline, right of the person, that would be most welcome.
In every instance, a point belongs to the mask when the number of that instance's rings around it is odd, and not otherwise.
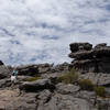
[[[64,63],[61,65],[54,64],[33,64],[33,65],[21,65],[18,66],[16,69],[19,75],[25,76],[36,76],[42,74],[52,74],[52,73],[64,73],[68,70],[68,63]]]

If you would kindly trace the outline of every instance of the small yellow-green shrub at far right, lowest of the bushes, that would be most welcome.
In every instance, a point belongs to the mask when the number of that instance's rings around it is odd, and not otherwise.
[[[97,96],[100,96],[100,97],[106,97],[106,89],[103,86],[95,86],[95,92],[97,94]]]

